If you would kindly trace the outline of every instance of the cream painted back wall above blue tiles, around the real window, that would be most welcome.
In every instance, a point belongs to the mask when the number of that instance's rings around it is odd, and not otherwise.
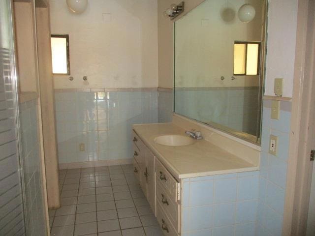
[[[65,0],[50,5],[51,33],[69,34],[74,77],[55,76],[55,89],[158,86],[157,0],[90,0],[81,15]]]

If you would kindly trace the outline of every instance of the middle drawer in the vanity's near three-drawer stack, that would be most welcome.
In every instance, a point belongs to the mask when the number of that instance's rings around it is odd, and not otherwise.
[[[175,230],[180,233],[180,205],[170,199],[166,190],[157,183],[157,202],[163,208]]]

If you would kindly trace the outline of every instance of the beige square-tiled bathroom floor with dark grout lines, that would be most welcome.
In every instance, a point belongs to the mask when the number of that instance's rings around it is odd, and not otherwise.
[[[162,236],[132,165],[60,170],[52,236]]]

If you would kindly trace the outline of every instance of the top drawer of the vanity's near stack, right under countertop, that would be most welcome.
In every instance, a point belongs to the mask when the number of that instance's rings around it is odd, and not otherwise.
[[[166,168],[156,158],[156,182],[159,183],[166,190],[170,199],[174,202],[180,200],[180,184]]]

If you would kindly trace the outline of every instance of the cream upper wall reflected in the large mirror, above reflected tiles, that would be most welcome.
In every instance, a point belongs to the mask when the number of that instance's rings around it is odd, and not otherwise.
[[[234,41],[261,41],[263,1],[251,0],[255,18],[243,23],[237,10],[244,0],[230,1],[234,19],[224,21],[221,0],[207,0],[175,22],[176,87],[248,87],[258,86],[259,76],[235,76]],[[221,80],[221,76],[225,79]]]

